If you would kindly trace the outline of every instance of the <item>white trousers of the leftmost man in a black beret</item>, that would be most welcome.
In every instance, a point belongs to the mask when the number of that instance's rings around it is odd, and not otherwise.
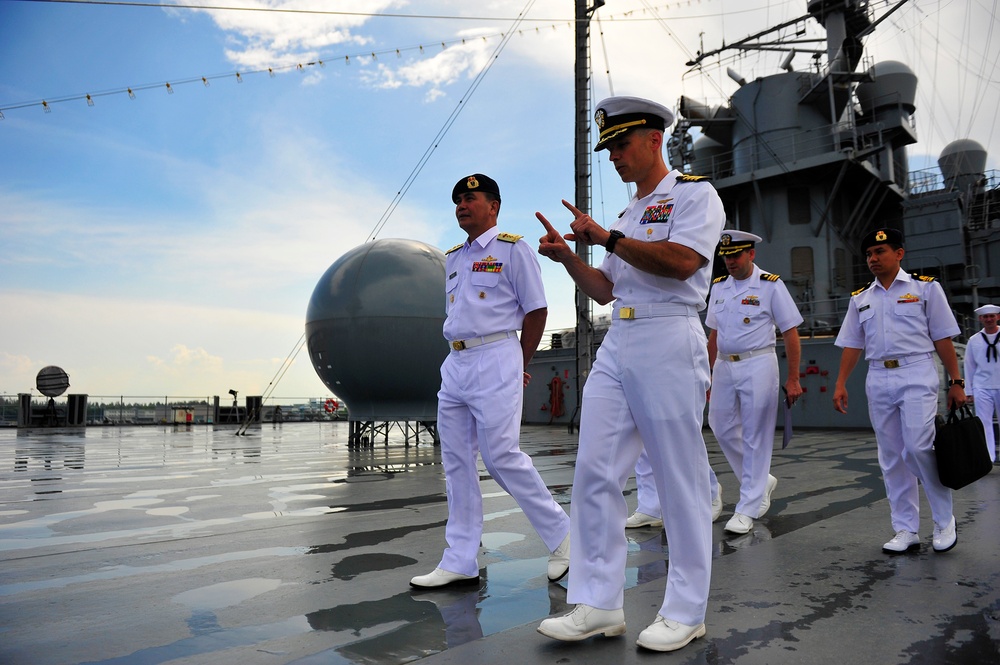
[[[569,517],[519,445],[523,371],[517,338],[452,351],[441,365],[437,426],[448,492],[448,547],[439,568],[479,574],[483,495],[477,454],[550,552],[569,533]]]

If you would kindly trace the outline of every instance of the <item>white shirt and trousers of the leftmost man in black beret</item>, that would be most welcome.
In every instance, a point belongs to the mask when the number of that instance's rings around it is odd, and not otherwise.
[[[448,354],[441,365],[437,426],[448,492],[445,549],[438,567],[478,575],[483,497],[477,453],[517,501],[550,552],[569,532],[569,517],[519,446],[524,356],[517,335],[524,315],[546,306],[535,252],[497,227],[446,257],[449,342],[510,332],[500,341]]]

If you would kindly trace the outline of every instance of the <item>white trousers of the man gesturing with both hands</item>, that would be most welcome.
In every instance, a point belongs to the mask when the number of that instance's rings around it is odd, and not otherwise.
[[[643,447],[670,547],[659,614],[704,621],[712,570],[708,453],[701,434],[708,352],[697,317],[615,321],[583,390],[570,508],[571,604],[624,606],[628,508]]]

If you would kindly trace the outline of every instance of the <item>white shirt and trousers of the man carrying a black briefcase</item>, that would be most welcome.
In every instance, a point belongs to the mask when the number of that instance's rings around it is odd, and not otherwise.
[[[852,294],[836,345],[864,349],[865,393],[893,531],[920,531],[917,480],[934,524],[952,518],[951,490],[938,478],[934,417],[940,378],[934,340],[959,333],[941,285],[900,270],[886,290],[878,280]],[[897,365],[895,366],[894,365]]]

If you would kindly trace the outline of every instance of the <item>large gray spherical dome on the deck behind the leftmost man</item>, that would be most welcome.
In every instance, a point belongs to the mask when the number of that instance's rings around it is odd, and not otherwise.
[[[309,359],[354,421],[433,421],[448,353],[444,253],[416,240],[356,247],[320,278],[306,311]]]

